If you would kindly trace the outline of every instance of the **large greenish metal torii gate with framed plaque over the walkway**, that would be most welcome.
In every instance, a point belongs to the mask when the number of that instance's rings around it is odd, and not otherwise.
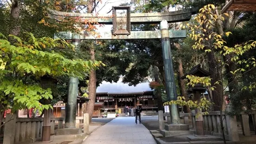
[[[97,39],[161,39],[163,59],[164,59],[164,72],[166,80],[166,92],[169,101],[176,100],[176,87],[174,81],[174,72],[171,59],[171,45],[170,38],[186,38],[185,30],[169,30],[168,23],[188,21],[192,14],[196,13],[195,9],[184,9],[175,12],[166,13],[130,13],[130,7],[112,7],[114,17],[106,15],[92,16],[91,13],[66,13],[51,10],[51,17],[60,20],[63,17],[78,17],[80,19],[96,19],[99,24],[112,25],[113,32],[99,32],[100,38]],[[118,10],[126,10],[126,20],[120,22],[117,19],[123,17],[116,17]],[[102,18],[104,17],[104,19]],[[132,24],[159,24],[160,30],[156,31],[130,31]],[[119,25],[124,26],[121,29]],[[82,39],[96,39],[90,32],[81,32],[81,34],[74,34],[70,32],[60,32],[64,35],[63,39],[72,39],[74,45],[78,45]],[[94,32],[95,33],[95,32]],[[55,36],[55,38],[57,38]],[[78,79],[72,78],[69,81],[68,103],[66,116],[66,128],[75,127],[75,107],[72,102],[76,101],[78,88]],[[170,106],[171,124],[180,124],[179,112],[177,105]]]

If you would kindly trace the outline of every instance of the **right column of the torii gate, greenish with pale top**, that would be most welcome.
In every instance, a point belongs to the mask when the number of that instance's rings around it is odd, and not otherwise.
[[[166,93],[168,101],[177,100],[176,86],[174,80],[174,72],[171,59],[171,44],[170,44],[170,35],[168,29],[168,22],[162,20],[160,22],[161,29],[161,43],[162,43],[162,52],[164,59],[164,73],[165,73],[165,82],[166,82]],[[170,105],[170,115],[171,115],[171,124],[180,124],[179,112],[177,105]]]

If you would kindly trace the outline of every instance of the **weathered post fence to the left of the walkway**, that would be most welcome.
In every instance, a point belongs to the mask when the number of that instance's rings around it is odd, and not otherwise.
[[[8,115],[3,121],[8,121],[10,118],[12,120],[4,125],[3,144],[13,144],[13,142],[29,143],[31,140],[37,141],[42,138],[44,118],[12,118],[10,115]],[[51,119],[51,135],[54,135],[57,129],[64,128],[64,121],[65,117]],[[76,117],[76,128],[84,127],[84,132],[88,132],[88,114],[84,114],[84,117]]]

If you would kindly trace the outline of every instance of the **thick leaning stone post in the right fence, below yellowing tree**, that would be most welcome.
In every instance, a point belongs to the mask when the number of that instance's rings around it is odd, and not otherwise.
[[[230,111],[231,108],[232,108],[232,106],[229,105],[227,107],[227,111]],[[227,127],[228,127],[228,132],[229,132],[229,140],[232,142],[240,141],[238,130],[237,130],[236,116],[230,117],[229,115],[227,115],[226,119],[227,119]]]

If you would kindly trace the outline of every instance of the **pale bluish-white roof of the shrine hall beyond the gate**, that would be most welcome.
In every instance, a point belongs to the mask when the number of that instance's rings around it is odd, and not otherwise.
[[[153,92],[149,87],[149,82],[129,86],[128,84],[124,84],[122,79],[119,79],[117,83],[103,81],[96,90],[97,94],[143,94],[147,92]]]

